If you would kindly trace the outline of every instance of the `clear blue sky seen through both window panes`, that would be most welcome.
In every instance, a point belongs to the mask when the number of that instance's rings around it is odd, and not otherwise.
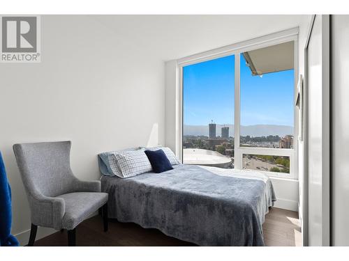
[[[241,55],[241,125],[293,126],[294,72],[252,76]],[[184,124],[234,124],[234,56],[184,67]]]

